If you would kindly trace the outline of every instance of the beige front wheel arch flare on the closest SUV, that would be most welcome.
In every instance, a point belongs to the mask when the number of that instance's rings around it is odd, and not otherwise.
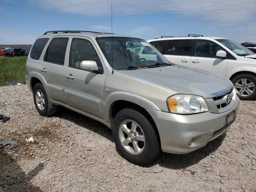
[[[112,106],[114,102],[118,100],[125,100],[128,102],[132,102],[134,104],[137,104],[138,106],[145,108],[145,109],[151,109],[151,110],[156,110],[160,111],[160,109],[151,101],[138,96],[136,94],[132,93],[127,93],[127,92],[114,92],[110,94],[107,98],[106,101],[104,102],[104,116],[106,121],[111,122],[112,119]]]

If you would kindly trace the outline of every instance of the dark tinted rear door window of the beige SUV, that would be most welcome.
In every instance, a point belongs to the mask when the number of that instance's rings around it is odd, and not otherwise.
[[[64,65],[67,44],[68,38],[54,38],[48,46],[44,60]]]

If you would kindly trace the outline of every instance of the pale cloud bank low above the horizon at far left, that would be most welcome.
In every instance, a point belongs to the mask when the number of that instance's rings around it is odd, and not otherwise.
[[[36,37],[21,35],[8,29],[0,30],[0,43],[1,44],[32,44]]]

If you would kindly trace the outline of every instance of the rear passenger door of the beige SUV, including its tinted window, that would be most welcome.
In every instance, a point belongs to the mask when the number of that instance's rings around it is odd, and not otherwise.
[[[55,36],[46,45],[43,61],[38,64],[38,71],[46,81],[48,96],[57,101],[64,101],[64,62],[69,38]]]

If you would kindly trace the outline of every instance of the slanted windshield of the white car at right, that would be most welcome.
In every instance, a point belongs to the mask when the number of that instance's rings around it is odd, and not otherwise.
[[[232,52],[234,52],[238,56],[246,56],[246,55],[254,54],[254,52],[252,52],[251,50],[247,49],[241,44],[234,42],[230,39],[216,39],[216,41],[220,42],[221,44],[223,44],[224,46],[232,50]]]

